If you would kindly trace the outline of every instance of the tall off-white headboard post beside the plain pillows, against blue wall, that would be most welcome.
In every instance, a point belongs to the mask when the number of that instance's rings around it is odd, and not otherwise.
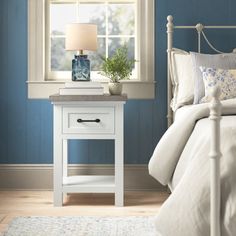
[[[172,82],[170,77],[170,63],[171,63],[171,50],[173,47],[173,33],[174,33],[174,24],[173,24],[173,17],[167,16],[167,122],[168,127],[172,124],[173,120],[173,112],[170,107],[170,102],[172,99]]]

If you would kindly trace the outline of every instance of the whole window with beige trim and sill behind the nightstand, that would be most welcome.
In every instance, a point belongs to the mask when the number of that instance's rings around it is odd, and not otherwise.
[[[125,92],[129,98],[154,97],[154,0],[28,0],[28,14],[29,98],[47,98],[71,79],[75,52],[64,48],[65,26],[72,22],[98,26],[98,50],[86,52],[92,80],[106,89],[100,55],[126,44],[137,62],[131,80],[122,81]]]

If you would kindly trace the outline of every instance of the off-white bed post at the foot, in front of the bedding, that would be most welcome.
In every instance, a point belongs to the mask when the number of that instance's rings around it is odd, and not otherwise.
[[[210,145],[210,186],[211,186],[211,236],[220,236],[220,88],[212,91],[210,103],[211,145]]]

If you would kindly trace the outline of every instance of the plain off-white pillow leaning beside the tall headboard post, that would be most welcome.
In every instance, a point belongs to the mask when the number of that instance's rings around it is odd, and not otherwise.
[[[173,49],[170,69],[174,87],[171,108],[176,111],[181,106],[193,103],[194,79],[190,54],[180,49]]]

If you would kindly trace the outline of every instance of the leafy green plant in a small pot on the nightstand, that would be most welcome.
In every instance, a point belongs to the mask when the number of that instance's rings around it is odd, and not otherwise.
[[[110,80],[108,84],[110,94],[120,95],[122,93],[122,83],[120,83],[120,80],[129,79],[135,60],[128,59],[127,46],[117,48],[111,57],[102,57],[102,60],[101,74]]]

